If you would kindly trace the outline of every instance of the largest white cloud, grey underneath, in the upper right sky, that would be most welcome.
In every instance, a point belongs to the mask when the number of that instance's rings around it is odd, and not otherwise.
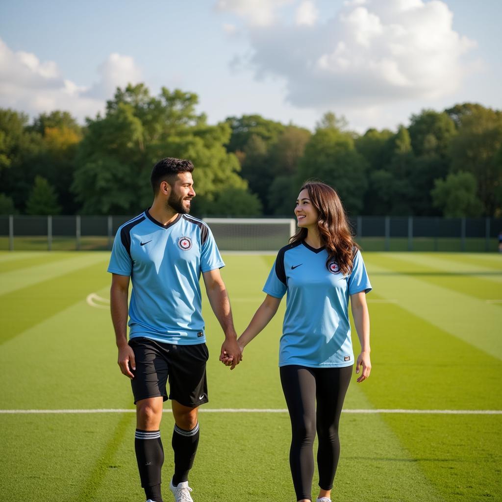
[[[244,6],[255,5],[218,4],[240,16],[250,16]],[[436,99],[452,95],[471,69],[463,56],[475,42],[453,30],[453,14],[439,0],[352,0],[328,20],[320,19],[313,1],[303,0],[296,24],[273,16],[284,2],[267,5],[268,24],[247,27],[253,48],[248,62],[257,79],[282,79],[296,106]]]

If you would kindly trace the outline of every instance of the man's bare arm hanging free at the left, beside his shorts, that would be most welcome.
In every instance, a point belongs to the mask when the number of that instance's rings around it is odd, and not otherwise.
[[[118,348],[118,365],[120,371],[134,378],[131,368],[136,369],[133,349],[127,342],[127,319],[128,319],[128,298],[129,298],[129,276],[112,274],[110,288],[110,311],[111,321],[115,330],[115,341]]]

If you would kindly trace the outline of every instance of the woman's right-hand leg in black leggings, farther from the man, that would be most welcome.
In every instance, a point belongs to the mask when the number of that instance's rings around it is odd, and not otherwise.
[[[328,496],[333,487],[340,457],[338,422],[347,393],[353,366],[320,368],[315,371],[317,398],[317,467],[321,496]],[[328,492],[328,494],[326,494]]]

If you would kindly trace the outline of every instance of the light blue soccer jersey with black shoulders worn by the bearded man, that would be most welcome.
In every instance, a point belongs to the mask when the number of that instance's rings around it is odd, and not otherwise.
[[[131,276],[129,337],[179,345],[206,341],[201,272],[224,267],[209,227],[187,214],[168,225],[148,210],[117,231],[108,272]]]

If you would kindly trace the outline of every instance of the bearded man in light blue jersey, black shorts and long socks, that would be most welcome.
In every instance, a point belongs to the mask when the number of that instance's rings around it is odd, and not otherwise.
[[[193,502],[188,472],[199,442],[198,407],[208,402],[201,272],[209,303],[225,333],[220,358],[227,352],[232,369],[241,358],[219,273],[224,263],[209,227],[188,216],[195,197],[193,169],[191,161],[173,158],[155,165],[152,207],[118,229],[108,267],[118,365],[133,387],[136,458],[147,502],[163,502],[164,450],[159,426],[163,402],[168,399],[168,376],[175,421],[170,489],[176,502]]]

